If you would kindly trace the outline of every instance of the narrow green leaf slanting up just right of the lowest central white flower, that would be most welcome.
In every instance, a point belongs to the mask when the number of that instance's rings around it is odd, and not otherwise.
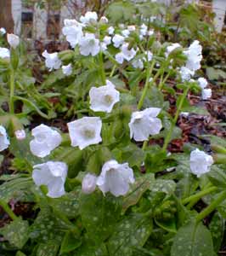
[[[127,211],[128,207],[138,203],[144,192],[150,189],[150,184],[154,182],[155,176],[153,173],[145,174],[136,179],[136,182],[131,185],[131,188],[122,202],[123,212]]]

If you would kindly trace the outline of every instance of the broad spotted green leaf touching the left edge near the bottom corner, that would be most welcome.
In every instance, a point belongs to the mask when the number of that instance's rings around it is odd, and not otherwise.
[[[29,238],[29,224],[26,220],[17,218],[0,229],[0,233],[11,245],[21,249]]]

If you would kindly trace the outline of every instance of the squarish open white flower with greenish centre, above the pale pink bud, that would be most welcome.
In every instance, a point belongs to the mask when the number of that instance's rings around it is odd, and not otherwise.
[[[89,145],[102,142],[100,136],[102,121],[99,117],[83,117],[67,124],[71,146],[81,150]]]

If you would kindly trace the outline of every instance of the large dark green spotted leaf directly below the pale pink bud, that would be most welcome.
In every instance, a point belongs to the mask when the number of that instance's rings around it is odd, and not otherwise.
[[[104,241],[113,232],[121,213],[119,200],[113,195],[96,191],[80,196],[82,224],[93,241]],[[93,230],[95,230],[93,232]]]

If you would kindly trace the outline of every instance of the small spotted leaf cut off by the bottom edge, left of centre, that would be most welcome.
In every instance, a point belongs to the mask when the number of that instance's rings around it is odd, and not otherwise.
[[[36,256],[56,256],[59,250],[58,241],[48,241],[45,243],[40,243],[37,247]]]

